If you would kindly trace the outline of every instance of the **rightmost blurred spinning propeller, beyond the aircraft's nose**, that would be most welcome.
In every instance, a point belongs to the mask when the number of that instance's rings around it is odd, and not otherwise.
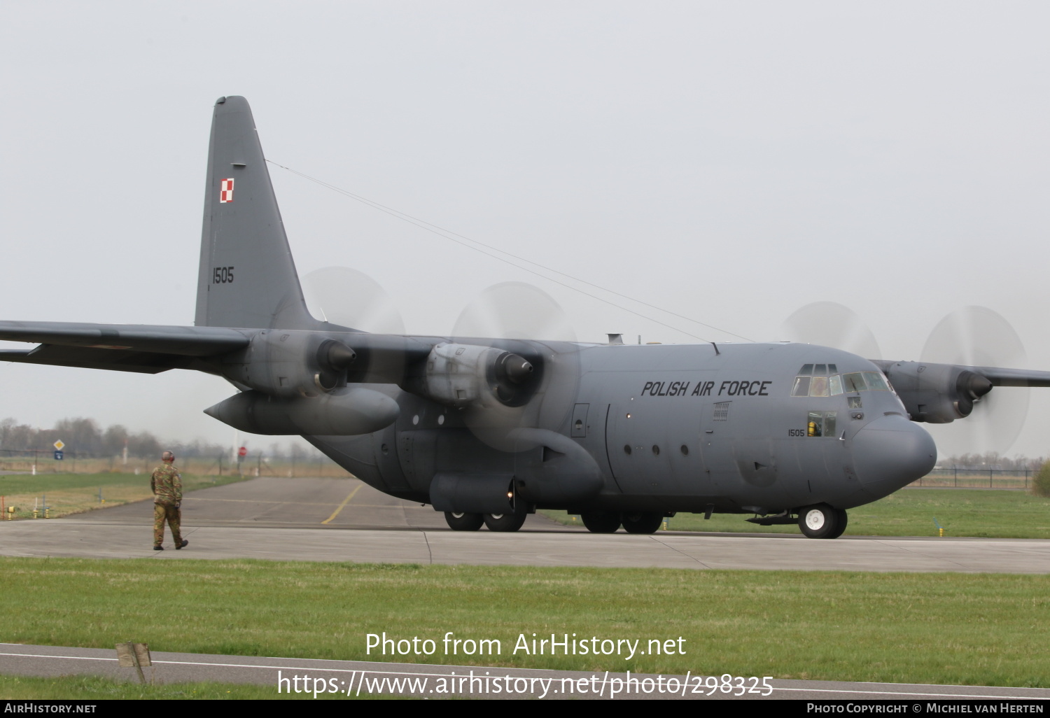
[[[1025,347],[1005,318],[985,307],[965,307],[944,317],[926,340],[922,361],[1022,368]],[[973,376],[974,379],[981,377]],[[972,383],[972,382],[971,382]],[[1028,416],[1029,390],[1000,386],[980,396],[983,385],[970,387],[973,410],[964,421],[927,428],[946,456],[1006,453],[1017,440]]]

